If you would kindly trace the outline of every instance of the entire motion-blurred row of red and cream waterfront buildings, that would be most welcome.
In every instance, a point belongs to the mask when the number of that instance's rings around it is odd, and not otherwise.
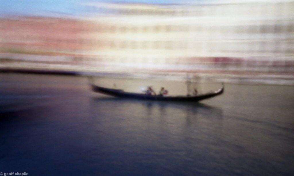
[[[294,1],[81,5],[78,18],[0,19],[2,67],[293,76]]]

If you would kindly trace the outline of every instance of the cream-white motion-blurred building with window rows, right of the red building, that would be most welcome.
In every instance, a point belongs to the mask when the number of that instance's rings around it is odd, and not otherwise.
[[[97,24],[85,37],[96,46],[89,52],[108,62],[171,71],[294,71],[293,1],[85,8]]]

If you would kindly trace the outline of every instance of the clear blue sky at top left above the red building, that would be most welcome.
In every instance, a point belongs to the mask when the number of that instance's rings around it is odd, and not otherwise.
[[[87,1],[87,0],[86,0]],[[0,0],[0,14],[50,15],[54,13],[65,15],[80,15],[83,13],[81,3],[85,0]],[[94,1],[94,0],[88,0]],[[152,4],[171,4],[191,2],[191,0],[113,0],[103,2],[134,2]],[[101,1],[100,1],[101,2]]]

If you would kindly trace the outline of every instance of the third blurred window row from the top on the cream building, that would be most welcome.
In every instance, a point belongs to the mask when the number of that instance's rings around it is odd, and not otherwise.
[[[187,41],[97,41],[97,49],[135,49],[135,50],[193,50],[193,51],[255,51],[294,53],[294,41],[274,42],[219,42],[189,43]],[[97,43],[96,43],[97,44]],[[95,46],[94,46],[95,48]]]

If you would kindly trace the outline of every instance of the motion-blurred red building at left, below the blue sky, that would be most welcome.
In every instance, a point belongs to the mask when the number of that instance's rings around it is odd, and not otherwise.
[[[75,51],[82,48],[85,22],[75,19],[12,16],[0,19],[0,47],[27,51]]]

